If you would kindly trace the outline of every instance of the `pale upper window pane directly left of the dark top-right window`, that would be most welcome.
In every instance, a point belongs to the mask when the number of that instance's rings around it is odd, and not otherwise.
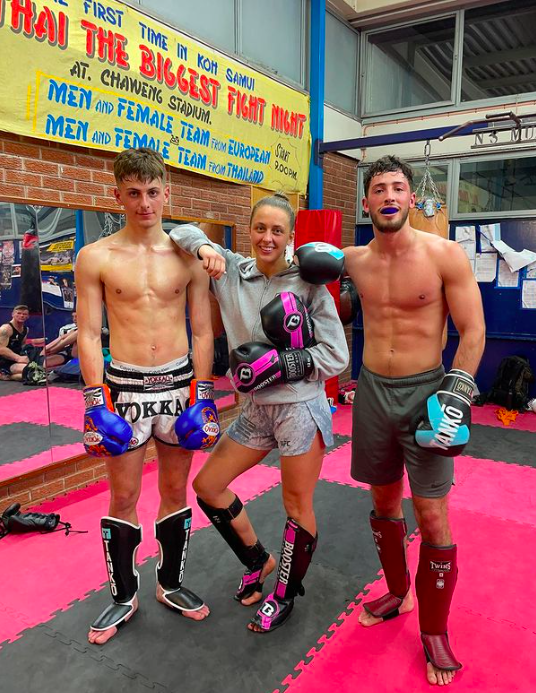
[[[367,36],[366,112],[452,101],[456,18]]]

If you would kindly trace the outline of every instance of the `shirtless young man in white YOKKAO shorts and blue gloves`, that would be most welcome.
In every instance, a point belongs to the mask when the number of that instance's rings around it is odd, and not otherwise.
[[[111,490],[109,516],[102,518],[101,530],[113,603],[88,636],[99,645],[138,607],[134,560],[141,526],[136,505],[151,436],[158,452],[160,491],[156,598],[194,620],[208,616],[203,601],[181,587],[192,518],[186,483],[190,450],[211,445],[219,435],[209,380],[214,343],[207,319],[208,277],[201,263],[178,250],[162,228],[169,197],[163,159],[151,149],[123,151],[115,160],[114,174],[125,227],[84,247],[76,263],[78,350],[87,385],[84,445],[89,454],[106,458]],[[113,359],[105,385],[103,300]],[[199,380],[192,380],[194,372]]]

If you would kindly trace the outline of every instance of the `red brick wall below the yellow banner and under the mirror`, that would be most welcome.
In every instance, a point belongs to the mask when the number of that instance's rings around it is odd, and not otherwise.
[[[112,194],[113,153],[69,147],[0,133],[0,200],[51,207],[117,211]],[[324,206],[343,212],[343,246],[354,242],[357,165],[348,157],[329,154],[324,160]],[[194,173],[172,170],[170,200],[164,214],[180,219],[214,219],[234,223],[236,249],[249,254],[251,189]],[[307,208],[306,199],[300,207]],[[346,328],[351,343],[351,326]],[[350,367],[342,374],[350,377]],[[224,412],[222,428],[237,416]],[[154,457],[148,446],[147,459]],[[0,510],[12,502],[23,507],[53,498],[105,478],[105,466],[94,458],[54,463],[22,478],[0,482]]]

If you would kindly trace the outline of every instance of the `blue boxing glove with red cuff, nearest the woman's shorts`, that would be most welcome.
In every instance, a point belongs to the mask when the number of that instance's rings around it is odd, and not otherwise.
[[[190,406],[177,419],[175,433],[185,450],[203,450],[217,442],[220,422],[211,380],[192,380]]]

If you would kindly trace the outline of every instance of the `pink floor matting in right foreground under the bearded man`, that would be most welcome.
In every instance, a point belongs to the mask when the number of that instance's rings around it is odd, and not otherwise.
[[[464,664],[452,690],[528,693],[536,677],[536,582],[527,579],[527,571],[512,567],[535,545],[536,530],[516,525],[512,531],[510,522],[463,510],[453,510],[452,520],[460,542],[460,579],[449,628],[454,651]],[[418,553],[417,539],[408,550],[413,576]],[[370,587],[367,600],[386,591],[383,579]],[[363,628],[358,623],[361,608],[350,605],[350,614],[342,614],[317,647],[304,653],[312,660],[296,667],[301,671],[296,679],[283,681],[289,684],[288,693],[433,690],[424,678],[417,609]]]

